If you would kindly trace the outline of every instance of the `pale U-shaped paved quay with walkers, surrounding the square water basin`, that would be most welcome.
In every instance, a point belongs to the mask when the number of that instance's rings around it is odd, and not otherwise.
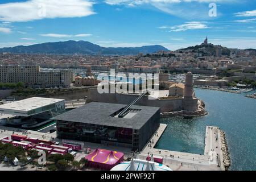
[[[154,155],[162,156],[164,165],[169,166],[173,170],[180,170],[180,171],[225,170],[225,168],[222,168],[224,167],[224,165],[221,162],[221,156],[222,156],[222,151],[220,150],[221,143],[219,142],[217,137],[220,134],[220,131],[218,130],[217,127],[210,127],[210,126],[206,127],[204,155],[154,148],[155,144],[160,139],[166,127],[167,125],[160,124],[159,129],[156,131],[154,136],[150,139],[151,144],[150,142],[148,142],[148,144],[146,144],[146,146],[143,148],[142,152],[138,155],[139,159],[146,159],[147,156],[151,154],[153,156]],[[218,154],[218,157],[217,157],[217,154]],[[218,167],[218,164],[220,164],[220,166],[222,167]]]

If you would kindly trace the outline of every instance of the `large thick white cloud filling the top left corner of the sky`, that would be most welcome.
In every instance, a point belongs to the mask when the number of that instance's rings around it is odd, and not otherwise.
[[[28,0],[0,4],[0,20],[27,22],[44,18],[73,18],[95,14],[89,0]]]

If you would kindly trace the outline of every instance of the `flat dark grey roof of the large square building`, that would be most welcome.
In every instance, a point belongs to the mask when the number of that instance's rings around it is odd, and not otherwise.
[[[134,105],[134,106],[131,106],[130,109],[137,110],[137,112],[132,117],[118,118],[118,117],[111,116],[116,111],[126,106],[127,105],[122,105],[122,104],[90,102],[85,106],[57,115],[56,117],[54,117],[54,119],[57,119],[60,121],[89,123],[94,125],[140,129],[156,112],[159,111],[159,114],[160,114],[159,107]]]

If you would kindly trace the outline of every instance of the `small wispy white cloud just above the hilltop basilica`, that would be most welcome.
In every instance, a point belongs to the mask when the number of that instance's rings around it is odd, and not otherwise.
[[[180,32],[180,31],[186,31],[186,30],[205,29],[209,27],[204,22],[186,22],[185,24],[180,24],[177,26],[166,27],[166,28],[170,28],[171,32]]]

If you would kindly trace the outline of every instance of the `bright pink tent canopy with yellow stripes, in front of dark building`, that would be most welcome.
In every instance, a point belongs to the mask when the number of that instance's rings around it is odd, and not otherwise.
[[[85,159],[88,160],[88,164],[91,167],[110,170],[123,161],[123,153],[97,148],[87,155]]]

